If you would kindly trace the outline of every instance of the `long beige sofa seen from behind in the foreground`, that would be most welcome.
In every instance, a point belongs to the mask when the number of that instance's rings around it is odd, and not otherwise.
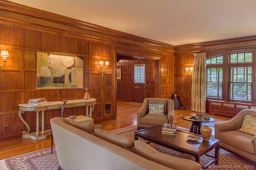
[[[84,126],[84,123],[68,122],[61,117],[50,119],[50,123],[60,169],[200,169],[197,162],[159,153],[143,141],[132,143],[128,137],[94,129],[94,123],[86,122]]]

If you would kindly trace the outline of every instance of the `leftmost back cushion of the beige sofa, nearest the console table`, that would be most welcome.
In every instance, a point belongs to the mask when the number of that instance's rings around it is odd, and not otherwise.
[[[86,131],[87,133],[90,133],[94,135],[94,123],[92,122],[77,122],[74,120],[67,120],[65,118],[62,118],[62,120],[67,123],[68,125],[74,126],[78,129],[81,129],[82,131]]]

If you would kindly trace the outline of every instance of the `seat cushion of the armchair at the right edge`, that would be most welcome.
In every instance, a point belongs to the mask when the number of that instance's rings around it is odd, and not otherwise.
[[[255,146],[254,143],[251,143],[252,138],[252,135],[240,131],[226,131],[218,134],[218,139],[220,141],[254,154]]]

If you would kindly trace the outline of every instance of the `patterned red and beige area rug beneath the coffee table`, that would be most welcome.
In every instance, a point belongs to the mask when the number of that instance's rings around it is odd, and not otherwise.
[[[180,130],[188,131],[189,129],[178,127]],[[132,137],[134,138],[134,132],[137,130],[137,126],[126,127],[123,129],[119,129],[116,131],[112,131],[118,135]],[[139,140],[143,140],[139,138]],[[145,141],[145,140],[144,140]],[[145,141],[147,142],[147,141]],[[195,160],[194,156],[190,156],[188,154],[183,154],[166,147],[162,147],[160,145],[149,143],[151,147],[158,150],[158,152],[170,154],[173,156],[177,156],[180,158],[186,158],[189,160]],[[210,165],[207,169],[218,169],[218,170],[252,170],[256,168],[256,165],[248,162],[247,160],[241,158],[240,156],[234,155],[226,150],[220,149],[219,152],[219,164],[218,165]],[[210,151],[210,154],[214,154],[214,150]],[[201,156],[200,164],[202,166],[206,165],[207,162],[210,162],[212,158],[208,156]],[[1,160],[0,160],[1,161]],[[30,152],[27,154],[22,154],[18,156],[14,156],[11,158],[6,158],[2,160],[4,165],[7,167],[7,170],[58,170],[58,157],[56,153],[55,147],[53,147],[53,154],[51,154],[51,148],[38,150],[35,152]],[[5,170],[5,168],[0,168],[0,170]]]

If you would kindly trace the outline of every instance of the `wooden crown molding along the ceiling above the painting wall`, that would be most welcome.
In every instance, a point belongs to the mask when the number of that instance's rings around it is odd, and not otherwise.
[[[26,15],[26,16],[31,16],[31,17],[34,17],[34,18],[42,19],[42,20],[52,21],[52,22],[55,22],[55,23],[59,23],[60,25],[61,24],[70,25],[72,27],[77,27],[77,28],[84,29],[84,30],[103,33],[103,34],[106,34],[106,35],[112,35],[112,36],[115,36],[115,37],[120,37],[122,39],[125,38],[125,39],[129,39],[129,40],[132,40],[132,41],[138,41],[140,43],[148,44],[148,46],[152,46],[152,47],[154,46],[154,49],[159,49],[159,50],[163,50],[163,51],[168,51],[166,49],[174,50],[174,45],[169,45],[169,44],[162,43],[162,42],[159,42],[159,41],[154,41],[154,40],[147,39],[147,38],[144,38],[144,37],[139,37],[139,36],[132,35],[132,34],[129,34],[129,33],[124,33],[122,31],[117,31],[117,30],[114,30],[114,29],[110,29],[110,28],[99,26],[99,25],[95,25],[95,24],[92,24],[92,23],[88,23],[88,22],[68,18],[68,17],[65,17],[65,16],[61,16],[61,15],[58,15],[58,14],[46,12],[46,11],[39,10],[39,9],[36,9],[36,8],[31,8],[31,7],[28,7],[28,6],[21,5],[21,4],[16,4],[14,2],[9,2],[9,1],[6,1],[6,0],[0,0],[0,9],[6,10],[6,11],[9,11],[9,12],[15,12],[15,13],[18,13],[18,14],[23,14],[23,15]]]

